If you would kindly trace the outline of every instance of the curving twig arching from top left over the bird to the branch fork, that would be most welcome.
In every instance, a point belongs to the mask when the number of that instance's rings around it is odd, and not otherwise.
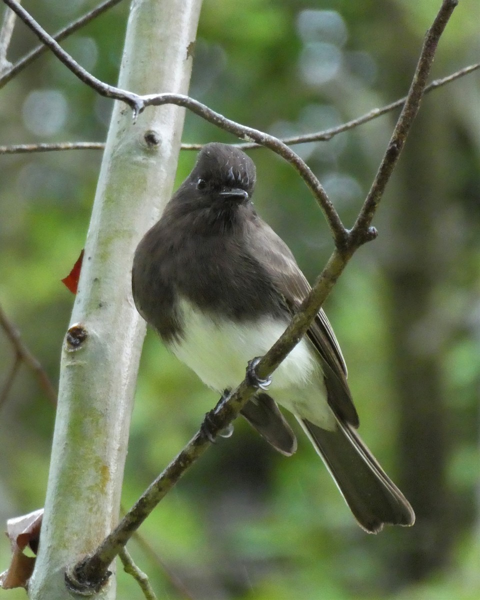
[[[147,106],[161,106],[163,104],[176,104],[176,106],[182,106],[201,116],[206,121],[217,125],[230,133],[235,134],[240,139],[254,141],[262,146],[271,148],[278,155],[283,157],[286,161],[292,164],[297,170],[301,178],[305,181],[308,188],[310,188],[314,197],[320,205],[320,208],[325,215],[328,226],[332,232],[332,236],[335,240],[335,245],[340,247],[344,244],[347,230],[343,226],[343,223],[335,210],[334,205],[330,201],[326,191],[323,189],[322,184],[311,171],[310,167],[302,160],[298,154],[293,152],[288,146],[277,139],[274,136],[270,136],[263,131],[253,129],[251,127],[245,127],[227,119],[220,113],[209,109],[208,106],[182,94],[148,94],[140,96],[133,92],[125,91],[115,86],[107,85],[107,83],[101,82],[97,77],[92,76],[88,71],[81,67],[74,59],[50,37],[49,34],[33,19],[33,17],[21,6],[19,6],[15,0],[4,0],[12,10],[17,13],[22,21],[28,25],[32,31],[43,41],[46,46],[52,50],[52,52],[63,62],[72,73],[74,73],[82,82],[90,86],[92,89],[98,92],[98,94],[106,96],[107,98],[114,98],[115,100],[121,100],[125,104],[131,107],[133,110],[133,117],[142,112]]]

